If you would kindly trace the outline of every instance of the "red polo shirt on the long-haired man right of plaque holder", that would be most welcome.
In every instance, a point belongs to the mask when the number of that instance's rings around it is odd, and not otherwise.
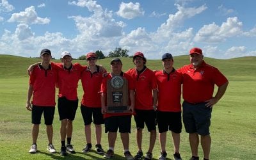
[[[145,68],[143,72],[138,74],[136,68],[132,68],[126,73],[129,74],[135,82],[135,109],[152,109],[152,90],[157,90],[154,72],[148,68]]]

